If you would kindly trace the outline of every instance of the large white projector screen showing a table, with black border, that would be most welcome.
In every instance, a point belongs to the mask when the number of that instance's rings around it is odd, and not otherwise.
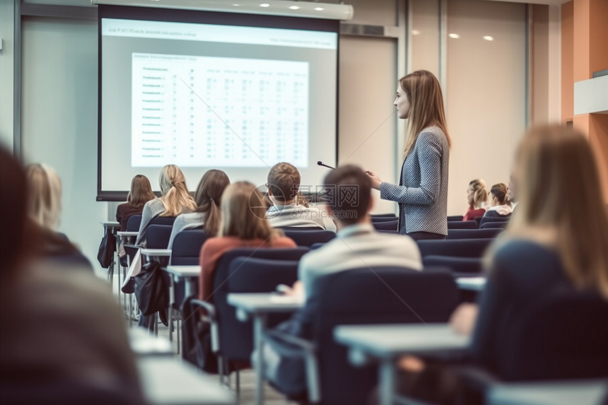
[[[296,165],[315,191],[337,160],[339,23],[100,6],[98,200],[164,165],[266,182]],[[310,188],[306,187],[310,186]]]

